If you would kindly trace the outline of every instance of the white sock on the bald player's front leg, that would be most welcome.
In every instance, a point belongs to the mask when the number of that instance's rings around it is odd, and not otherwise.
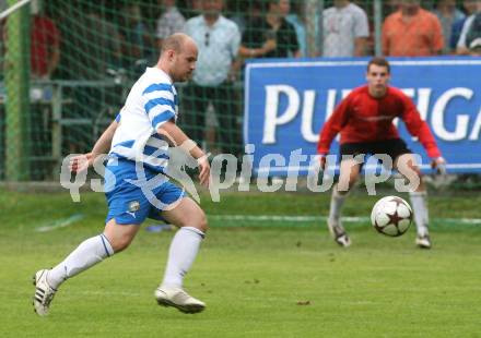
[[[204,233],[193,227],[183,227],[177,231],[168,250],[162,286],[183,287],[184,276],[196,259],[203,238]]]

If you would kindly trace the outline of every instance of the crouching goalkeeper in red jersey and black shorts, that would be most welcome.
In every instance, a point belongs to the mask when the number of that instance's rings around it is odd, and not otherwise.
[[[420,184],[410,192],[418,229],[415,243],[420,248],[430,249],[426,190],[414,157],[406,143],[399,138],[392,120],[400,118],[404,121],[408,131],[419,138],[427,155],[433,159],[433,168],[445,172],[446,162],[412,100],[400,89],[388,85],[389,63],[383,58],[373,58],[367,64],[366,80],[367,85],[353,89],[336,108],[319,135],[317,153],[320,154],[320,167],[324,169],[330,144],[336,135],[341,133],[340,177],[339,182],[332,188],[327,221],[329,231],[339,245],[351,244],[340,216],[348,192],[355,183],[361,170],[361,164],[354,156],[387,154],[391,157],[394,167],[401,173],[411,172],[414,179],[419,179]]]

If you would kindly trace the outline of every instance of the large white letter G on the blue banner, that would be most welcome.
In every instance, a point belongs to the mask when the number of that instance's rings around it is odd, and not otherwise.
[[[469,88],[451,88],[443,93],[443,95],[439,96],[436,104],[434,104],[433,107],[433,114],[432,114],[432,128],[434,133],[445,140],[445,141],[459,141],[462,138],[466,138],[468,135],[468,122],[469,122],[469,116],[467,114],[458,114],[456,117],[456,129],[454,132],[449,132],[444,126],[444,113],[446,110],[447,104],[455,98],[456,96],[460,96],[466,98],[467,100],[470,100],[472,97],[472,90]]]

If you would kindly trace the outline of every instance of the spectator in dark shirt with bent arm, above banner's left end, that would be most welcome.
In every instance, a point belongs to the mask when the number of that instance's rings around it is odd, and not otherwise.
[[[268,0],[266,16],[254,20],[246,27],[239,55],[245,58],[298,58],[295,28],[285,20],[290,10],[289,0]]]

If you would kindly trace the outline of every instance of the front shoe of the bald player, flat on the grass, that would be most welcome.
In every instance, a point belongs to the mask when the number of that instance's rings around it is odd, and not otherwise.
[[[198,313],[206,309],[206,304],[189,295],[180,288],[159,287],[155,290],[159,305],[173,306],[184,313]]]

